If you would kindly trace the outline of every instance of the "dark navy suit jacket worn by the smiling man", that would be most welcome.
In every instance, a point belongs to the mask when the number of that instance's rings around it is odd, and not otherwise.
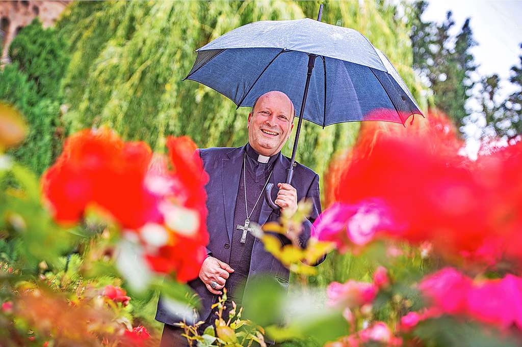
[[[198,152],[203,160],[205,171],[209,175],[209,181],[205,187],[208,209],[207,229],[210,237],[207,245],[207,254],[229,264],[230,243],[232,231],[234,230],[234,210],[238,196],[245,147],[206,148],[198,150]],[[275,189],[272,190],[272,199],[274,200],[278,191],[277,183],[286,181],[289,167],[290,159],[279,153],[274,164],[274,172],[270,178],[270,182],[275,185]],[[295,163],[291,184],[297,190],[298,200],[306,198],[313,203],[311,216],[303,222],[303,230],[300,236],[300,245],[304,248],[310,238],[312,223],[321,213],[319,176],[306,166]],[[279,212],[272,210],[267,205],[265,199],[262,198],[262,200],[263,205],[258,224],[263,225],[266,222],[277,221]],[[281,240],[282,244],[290,243],[281,234],[275,235]],[[266,252],[263,242],[257,239],[254,241],[252,249],[248,278],[256,274],[271,274],[279,283],[288,288],[289,270],[274,256]],[[244,296],[248,295],[248,278],[246,279]],[[217,302],[217,295],[210,293],[199,278],[192,280],[188,284],[201,299],[199,319],[205,320],[210,314],[210,306]],[[179,321],[176,316],[168,312],[161,299],[158,303],[156,319],[167,324],[174,324]]]

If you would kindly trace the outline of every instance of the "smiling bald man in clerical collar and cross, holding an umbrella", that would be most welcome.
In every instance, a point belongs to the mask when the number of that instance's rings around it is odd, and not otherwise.
[[[233,300],[238,306],[248,293],[248,279],[253,275],[270,274],[288,288],[289,270],[247,232],[252,223],[277,221],[281,212],[293,214],[298,201],[308,199],[313,203],[312,213],[303,222],[300,236],[300,245],[305,247],[312,223],[321,213],[319,176],[314,171],[295,163],[292,183],[281,183],[286,181],[290,167],[290,159],[281,155],[281,148],[290,137],[294,114],[286,94],[268,92],[257,98],[248,115],[245,146],[198,150],[209,175],[205,189],[210,241],[199,278],[188,284],[201,298],[199,319],[205,321],[205,326],[216,318],[211,306],[223,288],[227,289],[228,302]],[[274,202],[280,211],[272,210],[265,202],[264,187],[268,182],[279,188]],[[282,244],[290,243],[286,237],[277,236]],[[156,319],[165,323],[161,346],[186,343],[181,329],[172,326],[179,319],[169,314],[161,300]]]

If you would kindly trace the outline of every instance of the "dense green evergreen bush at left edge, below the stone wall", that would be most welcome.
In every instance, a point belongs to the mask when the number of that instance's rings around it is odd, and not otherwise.
[[[9,46],[13,64],[0,71],[0,100],[16,106],[29,125],[26,141],[10,153],[38,176],[60,151],[60,80],[68,56],[54,29],[38,19]]]

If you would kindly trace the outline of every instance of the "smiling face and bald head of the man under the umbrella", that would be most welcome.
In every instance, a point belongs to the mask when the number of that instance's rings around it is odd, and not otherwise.
[[[260,96],[248,114],[248,142],[254,151],[272,156],[283,147],[293,128],[293,104],[282,92]]]

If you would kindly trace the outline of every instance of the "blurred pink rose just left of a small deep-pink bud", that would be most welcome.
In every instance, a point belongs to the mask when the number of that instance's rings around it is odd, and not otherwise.
[[[371,303],[377,294],[377,288],[372,283],[349,280],[346,283],[332,282],[328,286],[329,304],[343,305],[349,308]]]

